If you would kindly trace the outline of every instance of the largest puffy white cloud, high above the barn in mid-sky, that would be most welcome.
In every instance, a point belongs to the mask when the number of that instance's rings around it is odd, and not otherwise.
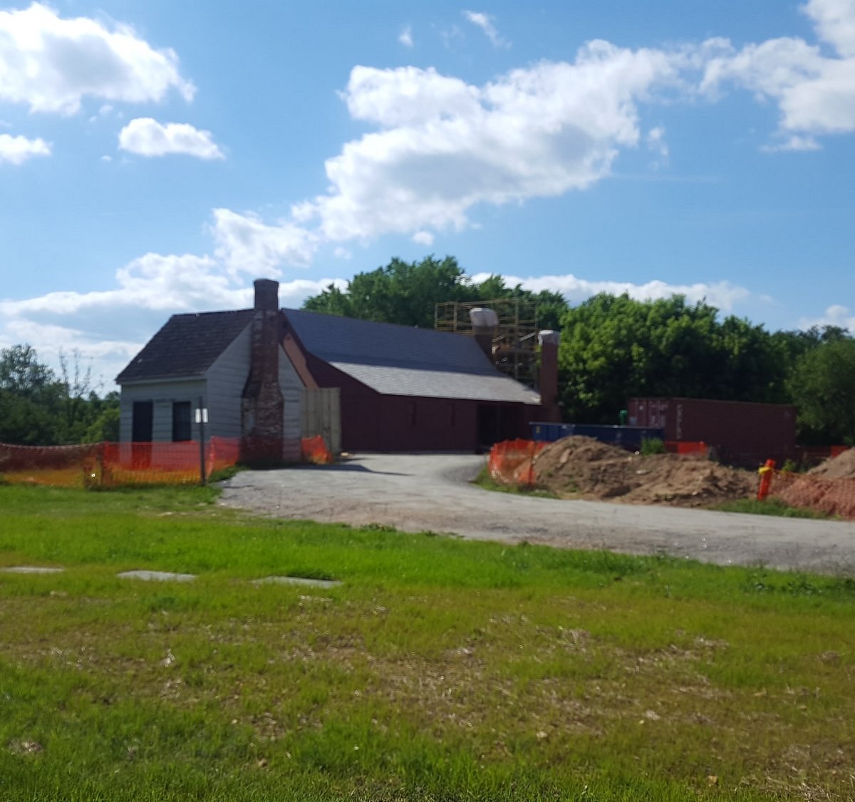
[[[324,239],[463,228],[469,209],[585,189],[640,139],[637,103],[678,80],[657,50],[607,42],[574,63],[541,62],[485,86],[436,70],[356,67],[351,115],[380,130],[326,163],[329,194],[298,204]]]

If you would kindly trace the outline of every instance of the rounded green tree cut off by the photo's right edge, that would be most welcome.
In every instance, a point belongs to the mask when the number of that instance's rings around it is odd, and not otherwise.
[[[799,425],[855,445],[855,339],[834,336],[799,357],[789,382]]]

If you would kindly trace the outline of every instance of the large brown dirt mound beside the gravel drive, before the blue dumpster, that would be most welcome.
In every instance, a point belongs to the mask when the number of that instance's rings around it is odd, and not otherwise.
[[[590,437],[565,437],[534,458],[538,485],[560,498],[710,507],[757,492],[758,475],[695,454],[642,457]]]

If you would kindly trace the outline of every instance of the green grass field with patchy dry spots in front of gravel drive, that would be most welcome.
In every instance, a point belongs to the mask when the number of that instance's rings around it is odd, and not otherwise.
[[[0,487],[0,799],[855,798],[850,578],[214,498]]]

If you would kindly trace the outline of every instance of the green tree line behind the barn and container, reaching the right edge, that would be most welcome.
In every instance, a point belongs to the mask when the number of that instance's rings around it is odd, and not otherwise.
[[[805,445],[855,442],[855,339],[840,327],[769,332],[705,301],[675,295],[636,300],[600,293],[571,307],[559,292],[475,282],[453,257],[392,259],[330,285],[304,309],[433,327],[434,304],[521,298],[540,328],[562,333],[559,395],[564,419],[616,423],[628,398],[685,397],[796,404]]]

